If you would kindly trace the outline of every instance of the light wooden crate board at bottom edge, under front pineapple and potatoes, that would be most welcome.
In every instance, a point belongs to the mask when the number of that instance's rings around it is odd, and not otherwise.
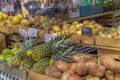
[[[30,80],[58,80],[55,78],[47,77],[42,74],[35,73],[33,71],[28,71],[28,77]]]

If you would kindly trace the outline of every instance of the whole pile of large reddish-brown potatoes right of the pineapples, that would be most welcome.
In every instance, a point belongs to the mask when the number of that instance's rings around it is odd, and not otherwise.
[[[120,62],[109,56],[75,54],[73,63],[56,61],[45,75],[60,80],[120,80]]]

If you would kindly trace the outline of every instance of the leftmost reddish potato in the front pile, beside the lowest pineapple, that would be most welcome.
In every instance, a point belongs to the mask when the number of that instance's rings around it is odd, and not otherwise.
[[[45,70],[45,75],[53,78],[60,78],[62,73],[54,66],[48,66]]]

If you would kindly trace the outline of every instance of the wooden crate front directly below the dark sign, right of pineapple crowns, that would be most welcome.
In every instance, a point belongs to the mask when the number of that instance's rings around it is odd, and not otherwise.
[[[77,36],[73,35],[71,38],[72,43],[77,44],[95,44],[94,36],[93,37],[86,37],[86,36]]]

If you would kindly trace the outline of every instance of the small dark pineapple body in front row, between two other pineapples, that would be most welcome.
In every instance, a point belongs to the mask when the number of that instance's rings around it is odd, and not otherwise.
[[[30,69],[32,69],[34,63],[35,63],[35,62],[32,60],[31,57],[27,57],[26,59],[24,59],[24,60],[21,62],[21,68],[22,68],[22,69],[25,69],[25,70],[30,70]]]

